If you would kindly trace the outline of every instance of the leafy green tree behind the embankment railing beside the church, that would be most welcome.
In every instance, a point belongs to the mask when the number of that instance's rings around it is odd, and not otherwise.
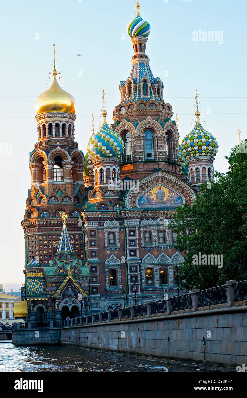
[[[216,172],[210,188],[202,184],[193,206],[178,207],[169,227],[177,231],[177,248],[185,254],[179,279],[187,289],[247,279],[247,153],[239,153],[237,146],[226,159],[229,171]],[[223,267],[193,264],[199,253],[223,254]]]

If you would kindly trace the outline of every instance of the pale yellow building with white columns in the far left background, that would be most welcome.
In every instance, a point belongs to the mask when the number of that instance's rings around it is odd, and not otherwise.
[[[3,289],[2,289],[3,290]],[[0,322],[12,325],[12,322],[22,322],[22,317],[15,318],[15,306],[21,301],[21,297],[14,293],[0,292]]]

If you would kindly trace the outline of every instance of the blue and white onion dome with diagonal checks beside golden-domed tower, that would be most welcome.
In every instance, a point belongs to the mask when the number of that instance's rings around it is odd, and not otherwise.
[[[123,153],[123,141],[119,135],[111,131],[105,119],[106,114],[104,109],[102,112],[102,126],[97,133],[91,135],[88,141],[87,150],[91,159],[106,157],[120,158]]]

